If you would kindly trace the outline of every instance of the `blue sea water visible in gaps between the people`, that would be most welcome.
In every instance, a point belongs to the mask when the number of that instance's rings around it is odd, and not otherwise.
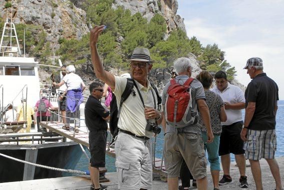
[[[243,110],[243,118],[244,118],[244,110]],[[284,156],[284,130],[282,130],[283,126],[284,126],[284,100],[280,100],[278,101],[278,110],[276,114],[276,135],[277,135],[277,150],[275,153],[276,157]],[[153,141],[154,141],[154,138],[153,138]],[[163,143],[164,143],[164,135],[163,135],[163,132],[161,132],[156,137],[155,157],[162,158]],[[87,152],[87,153],[90,157],[90,152]],[[233,154],[231,154],[231,160],[234,161]],[[76,166],[76,169],[82,170],[82,171],[88,170],[88,164],[89,164],[89,160],[87,156],[83,154],[80,161],[78,162]],[[116,171],[115,158],[106,155],[106,168],[108,169],[108,172]]]

